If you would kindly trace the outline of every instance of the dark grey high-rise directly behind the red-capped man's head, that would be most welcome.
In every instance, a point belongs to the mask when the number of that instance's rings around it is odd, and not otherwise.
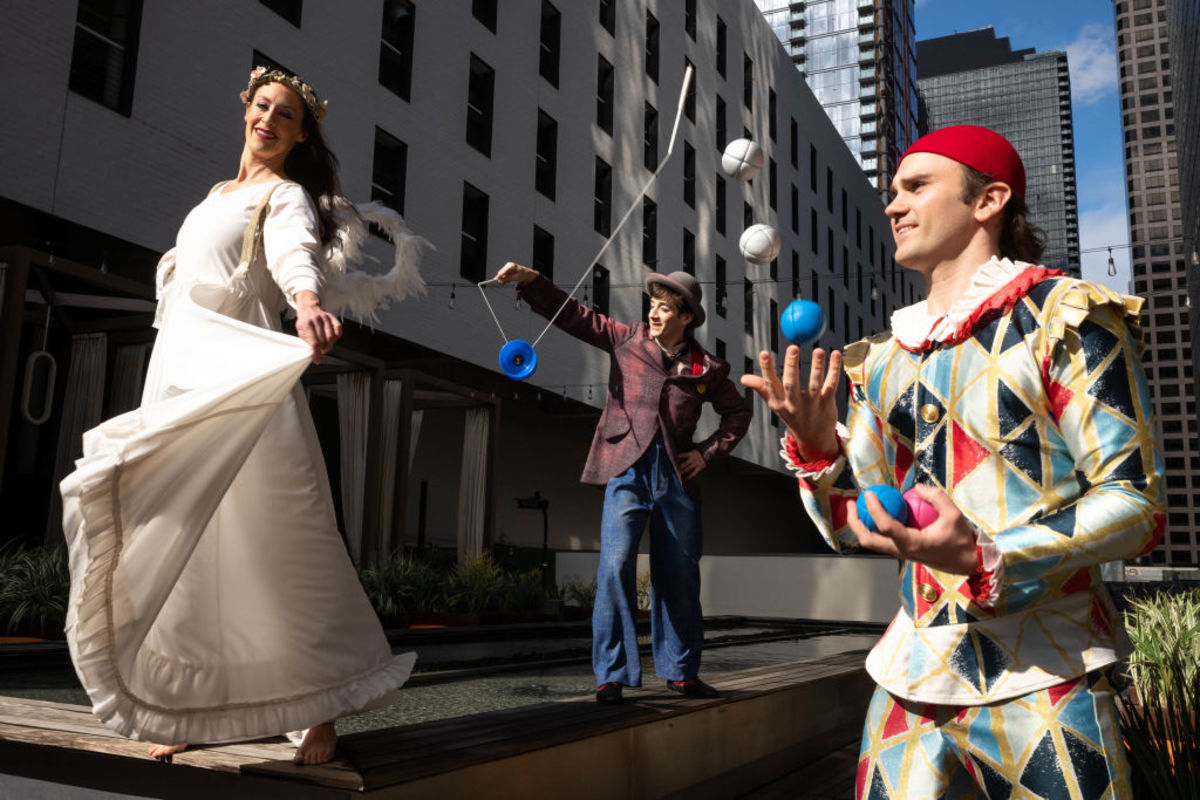
[[[1079,276],[1075,137],[1067,54],[1013,50],[991,28],[917,42],[926,130],[982,125],[1025,162],[1025,201],[1046,234],[1043,263]]]

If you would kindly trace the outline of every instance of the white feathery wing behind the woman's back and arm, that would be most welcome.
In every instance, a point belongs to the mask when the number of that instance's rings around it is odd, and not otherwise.
[[[433,245],[418,236],[403,217],[382,203],[372,201],[352,206],[341,200],[336,210],[337,234],[325,249],[326,279],[320,294],[325,311],[359,321],[379,321],[378,312],[395,300],[409,295],[425,295],[425,281],[418,271],[421,253]],[[388,272],[376,275],[358,269],[365,259],[378,260],[364,252],[367,239],[366,223],[379,225],[396,247],[396,261]]]

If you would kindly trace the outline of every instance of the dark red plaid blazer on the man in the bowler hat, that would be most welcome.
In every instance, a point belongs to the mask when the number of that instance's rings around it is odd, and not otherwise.
[[[546,318],[566,300],[566,293],[542,276],[517,291],[530,308]],[[654,434],[661,431],[676,474],[684,491],[694,495],[695,481],[685,481],[679,474],[679,455],[697,450],[712,464],[733,450],[750,427],[750,407],[730,380],[730,365],[695,341],[689,342],[695,367],[688,374],[668,375],[662,350],[650,338],[644,323],[618,323],[571,299],[566,300],[554,325],[606,350],[612,359],[608,397],[583,467],[582,482],[606,485],[608,479],[632,467],[654,440]],[[721,425],[703,441],[695,443],[692,438],[704,403],[713,404]]]

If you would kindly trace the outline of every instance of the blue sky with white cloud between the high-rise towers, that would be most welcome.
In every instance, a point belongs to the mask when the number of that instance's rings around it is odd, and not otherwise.
[[[1084,277],[1129,291],[1124,144],[1112,20],[1112,0],[917,0],[918,40],[990,25],[996,36],[1009,38],[1013,49],[1067,52],[1075,124],[1079,246],[1114,246],[1118,270],[1117,277],[1108,276],[1108,252],[1084,253]]]

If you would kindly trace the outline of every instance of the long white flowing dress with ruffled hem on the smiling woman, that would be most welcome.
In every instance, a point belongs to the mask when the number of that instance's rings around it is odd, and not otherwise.
[[[415,661],[392,656],[337,531],[298,384],[311,351],[280,332],[286,297],[323,285],[316,213],[275,186],[187,215],[158,267],[142,407],[85,433],[61,483],[71,656],[96,716],[136,739],[308,728],[389,703]]]

